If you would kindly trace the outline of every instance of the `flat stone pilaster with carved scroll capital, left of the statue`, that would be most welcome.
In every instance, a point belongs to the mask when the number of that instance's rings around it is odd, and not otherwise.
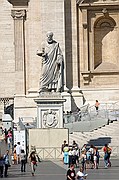
[[[25,94],[25,32],[24,21],[26,10],[13,9],[11,15],[14,19],[14,46],[15,46],[15,71],[16,94]]]

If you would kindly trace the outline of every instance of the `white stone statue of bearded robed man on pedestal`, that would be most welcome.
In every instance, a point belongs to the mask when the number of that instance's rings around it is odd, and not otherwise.
[[[63,90],[63,55],[59,43],[53,40],[53,33],[47,33],[47,42],[42,51],[37,51],[42,57],[42,74],[39,92],[62,92]]]

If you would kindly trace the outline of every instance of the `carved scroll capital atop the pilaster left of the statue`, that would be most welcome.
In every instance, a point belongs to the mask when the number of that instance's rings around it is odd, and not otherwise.
[[[14,19],[23,19],[26,17],[26,10],[12,10],[11,15]]]

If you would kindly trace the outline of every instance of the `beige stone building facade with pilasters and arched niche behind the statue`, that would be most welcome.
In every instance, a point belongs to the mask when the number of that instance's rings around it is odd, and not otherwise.
[[[66,111],[119,101],[119,0],[1,0],[0,9],[1,112],[13,99],[16,121],[37,116],[47,31],[64,56]]]

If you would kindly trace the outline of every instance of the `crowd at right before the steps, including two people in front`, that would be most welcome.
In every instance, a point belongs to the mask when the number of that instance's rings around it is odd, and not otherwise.
[[[105,168],[111,167],[110,154],[112,149],[108,144],[105,144],[102,151],[104,153]],[[78,174],[78,179],[85,179],[87,177],[87,174],[84,173],[86,169],[98,169],[99,167],[100,153],[98,148],[92,144],[90,146],[84,144],[82,148],[79,148],[75,141],[73,141],[72,145],[68,145],[67,142],[64,141],[61,152],[63,154],[63,163],[69,167],[67,171],[67,180],[75,179]],[[77,167],[80,167],[78,174],[76,174],[74,170],[74,168]],[[73,175],[73,177],[70,177],[71,175]]]

